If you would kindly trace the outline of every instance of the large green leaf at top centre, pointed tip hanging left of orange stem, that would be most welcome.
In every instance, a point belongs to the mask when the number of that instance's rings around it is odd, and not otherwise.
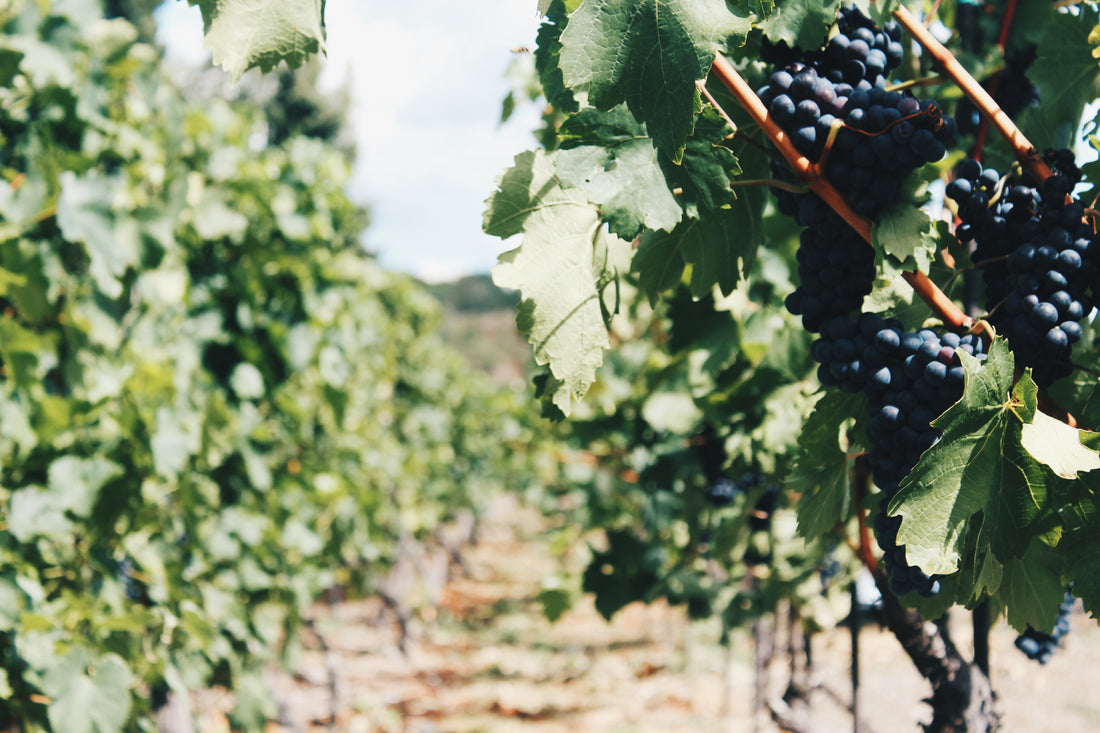
[[[700,109],[695,81],[750,28],[722,0],[587,0],[561,34],[561,69],[595,107],[626,102],[679,163]]]

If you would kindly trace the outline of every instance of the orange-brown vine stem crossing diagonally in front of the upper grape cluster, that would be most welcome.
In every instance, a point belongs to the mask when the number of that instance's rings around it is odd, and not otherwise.
[[[871,222],[856,214],[844,196],[840,195],[833,184],[822,175],[821,169],[810,158],[795,150],[791,139],[778,124],[768,116],[768,109],[757,97],[756,91],[737,73],[724,56],[718,54],[711,65],[712,73],[723,85],[734,95],[738,103],[745,108],[752,121],[756,122],[768,139],[774,143],[780,154],[790,164],[794,174],[805,183],[805,185],[822,198],[834,211],[848,222],[853,229],[862,237],[868,244],[871,243]],[[969,329],[974,327],[974,319],[963,313],[954,300],[939,289],[939,287],[921,272],[905,272],[902,275],[921,298],[927,303],[945,322],[955,328]]]

